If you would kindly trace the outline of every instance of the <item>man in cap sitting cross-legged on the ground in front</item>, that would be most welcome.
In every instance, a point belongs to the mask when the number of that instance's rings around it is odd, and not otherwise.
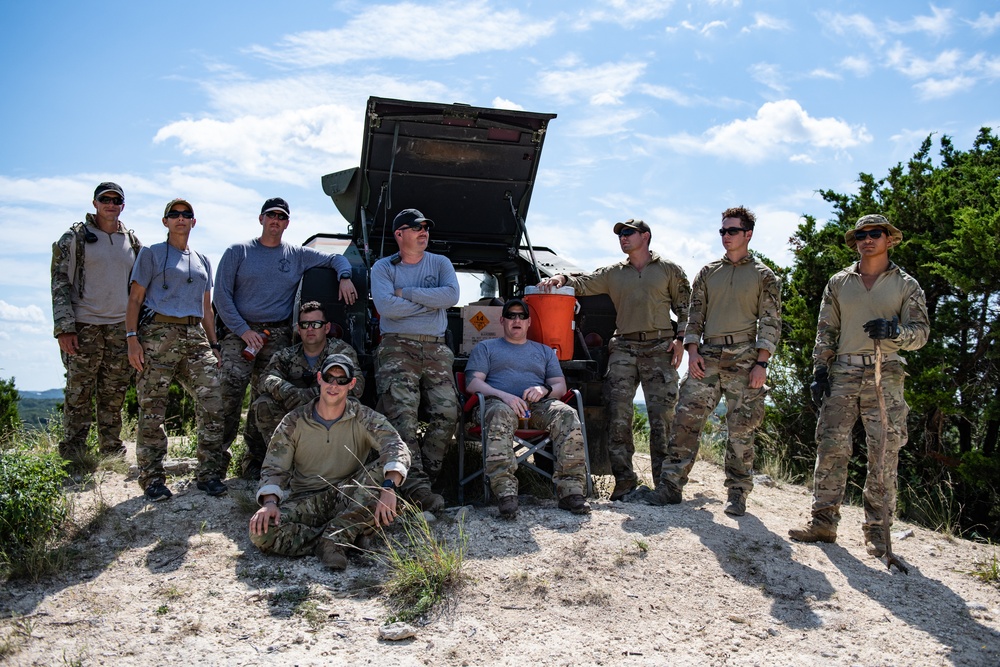
[[[282,556],[315,553],[343,570],[344,548],[398,513],[410,450],[385,417],[348,396],[357,380],[345,355],[330,356],[316,375],[319,397],[285,415],[267,448],[250,541]],[[366,466],[374,451],[378,460]]]

